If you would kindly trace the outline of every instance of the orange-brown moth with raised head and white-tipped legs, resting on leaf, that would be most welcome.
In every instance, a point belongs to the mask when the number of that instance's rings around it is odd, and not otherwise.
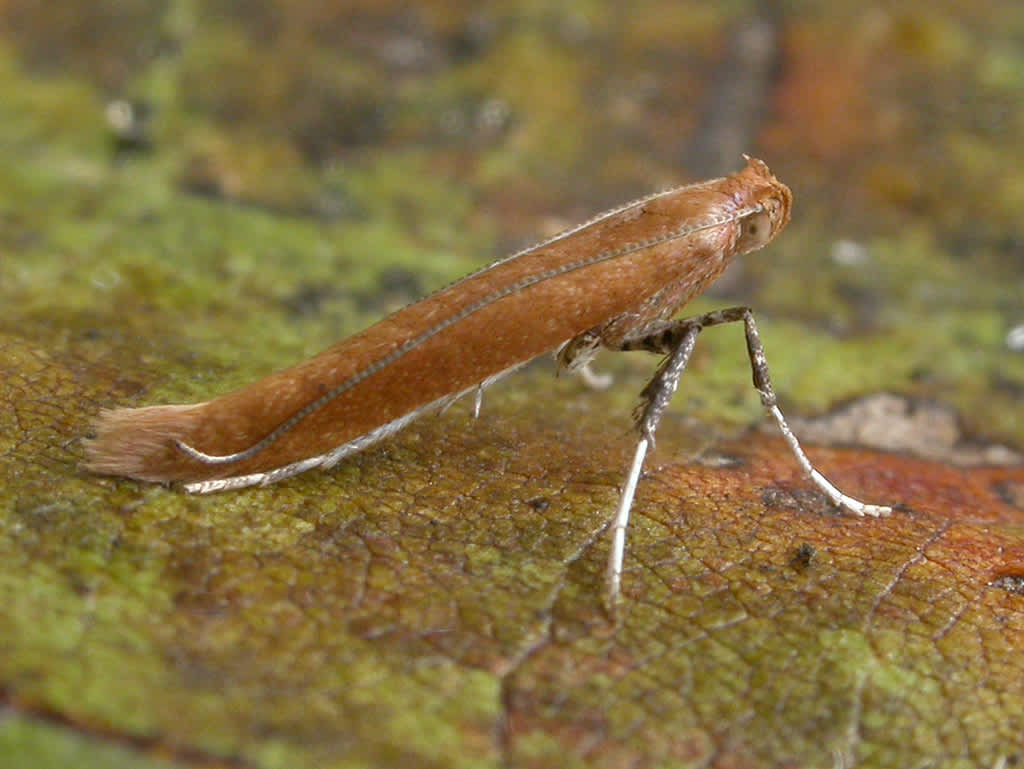
[[[673,319],[737,256],[790,221],[793,195],[760,160],[724,178],[650,195],[524,249],[394,312],[315,357],[200,403],[103,411],[86,467],[194,494],[330,468],[426,412],[554,351],[585,371],[601,349],[663,356],[640,394],[640,439],[611,525],[608,600],[644,459],[701,330],[742,323],[762,403],[811,481],[855,515],[885,515],[829,483],[778,409],[749,307]],[[477,401],[478,402],[478,401]]]

